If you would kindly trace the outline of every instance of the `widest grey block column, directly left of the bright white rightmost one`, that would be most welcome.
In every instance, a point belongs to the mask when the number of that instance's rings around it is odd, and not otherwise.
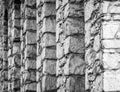
[[[56,0],[57,92],[85,92],[84,2]]]

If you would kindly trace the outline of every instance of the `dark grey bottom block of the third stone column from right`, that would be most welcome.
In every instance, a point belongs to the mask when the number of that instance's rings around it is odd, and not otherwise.
[[[57,78],[53,76],[44,76],[42,78],[42,91],[56,90]]]

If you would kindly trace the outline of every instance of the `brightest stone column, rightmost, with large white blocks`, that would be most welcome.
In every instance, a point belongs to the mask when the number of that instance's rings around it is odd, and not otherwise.
[[[120,91],[120,1],[85,2],[86,90]]]

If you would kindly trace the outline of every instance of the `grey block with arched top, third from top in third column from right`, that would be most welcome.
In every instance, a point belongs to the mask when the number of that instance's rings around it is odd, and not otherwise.
[[[56,45],[56,42],[55,42],[54,34],[46,33],[41,38],[41,46],[42,47],[49,47],[49,46],[55,46],[55,45]]]

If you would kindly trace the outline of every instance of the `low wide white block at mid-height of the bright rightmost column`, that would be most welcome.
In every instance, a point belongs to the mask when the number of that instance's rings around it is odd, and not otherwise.
[[[102,41],[103,48],[120,48],[120,40],[103,40]]]

